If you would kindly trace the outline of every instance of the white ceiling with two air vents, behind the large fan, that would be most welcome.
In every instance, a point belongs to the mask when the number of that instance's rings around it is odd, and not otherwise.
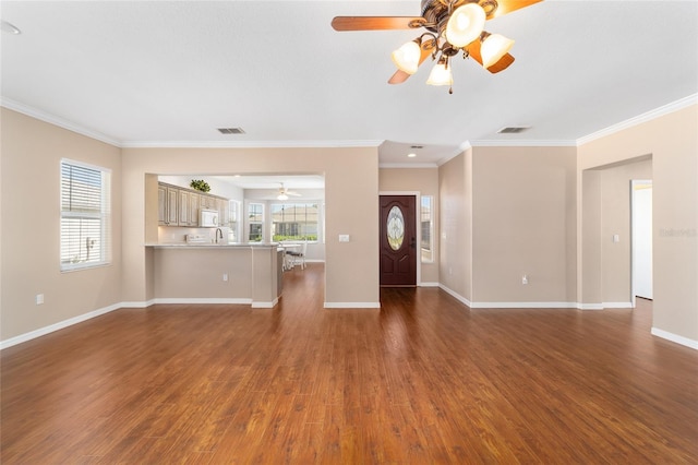
[[[435,164],[466,144],[574,144],[698,93],[698,2],[543,1],[488,23],[516,39],[490,74],[425,63],[388,85],[419,33],[338,33],[336,15],[419,15],[419,1],[2,1],[2,103],[121,146],[380,145]],[[520,134],[497,134],[530,126]],[[241,135],[216,128],[241,127]],[[407,158],[411,145],[422,145]]]

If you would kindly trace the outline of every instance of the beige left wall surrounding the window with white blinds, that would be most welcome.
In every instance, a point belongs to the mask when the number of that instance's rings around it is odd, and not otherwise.
[[[121,301],[120,150],[7,108],[2,118],[2,341]],[[60,271],[60,160],[111,169],[112,263]],[[44,294],[37,306],[35,296]]]

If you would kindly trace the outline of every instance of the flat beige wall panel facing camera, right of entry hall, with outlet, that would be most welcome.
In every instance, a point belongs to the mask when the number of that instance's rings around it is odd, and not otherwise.
[[[471,300],[575,305],[576,147],[474,147],[472,157]]]

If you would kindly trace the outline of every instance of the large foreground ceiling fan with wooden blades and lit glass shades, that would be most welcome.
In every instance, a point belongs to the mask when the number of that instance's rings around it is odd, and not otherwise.
[[[453,85],[450,58],[462,51],[491,73],[507,69],[514,57],[514,40],[484,31],[488,20],[529,7],[542,0],[422,0],[421,16],[336,16],[335,31],[380,31],[425,28],[414,40],[393,52],[398,70],[388,84],[400,84],[417,72],[428,57],[436,65],[426,80],[430,85]],[[453,94],[453,87],[448,91]]]

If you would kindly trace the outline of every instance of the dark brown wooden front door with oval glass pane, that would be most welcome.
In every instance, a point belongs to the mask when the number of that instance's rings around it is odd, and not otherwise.
[[[381,195],[381,286],[417,286],[414,195]]]

